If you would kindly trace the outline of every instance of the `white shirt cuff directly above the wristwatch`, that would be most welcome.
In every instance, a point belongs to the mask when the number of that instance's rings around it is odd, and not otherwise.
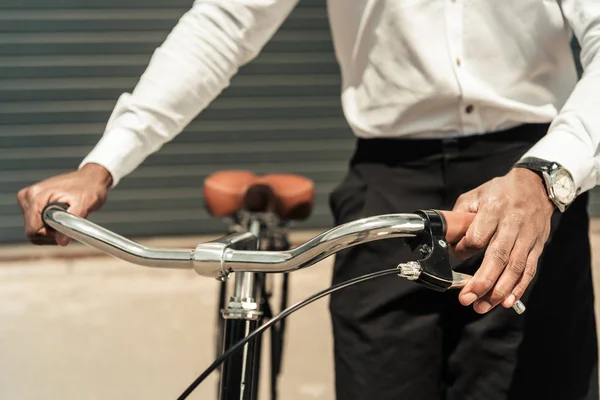
[[[598,172],[590,147],[566,131],[553,131],[537,142],[525,155],[556,162],[571,173],[578,193],[595,186]]]

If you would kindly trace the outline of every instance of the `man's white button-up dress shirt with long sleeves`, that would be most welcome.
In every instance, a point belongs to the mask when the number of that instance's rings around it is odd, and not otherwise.
[[[85,158],[114,185],[178,135],[298,0],[196,0]],[[524,156],[598,184],[600,0],[328,0],[355,135],[447,137],[552,122]],[[584,76],[577,82],[572,33]]]

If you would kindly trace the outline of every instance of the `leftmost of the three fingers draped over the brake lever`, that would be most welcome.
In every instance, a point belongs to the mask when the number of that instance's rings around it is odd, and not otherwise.
[[[483,257],[481,267],[475,272],[473,278],[461,290],[459,300],[463,305],[470,305],[485,296],[496,284],[510,260],[510,254],[515,245],[517,234],[513,229],[501,229],[492,238]],[[491,309],[491,304],[480,303],[477,312],[485,308]]]

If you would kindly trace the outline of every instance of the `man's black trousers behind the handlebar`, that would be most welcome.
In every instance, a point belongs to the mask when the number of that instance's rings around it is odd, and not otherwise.
[[[458,196],[507,173],[547,125],[457,140],[358,140],[330,205],[337,224],[420,208],[452,209]],[[463,307],[385,277],[331,297],[338,400],[598,400],[598,351],[583,194],[552,219],[551,237],[519,316]],[[333,281],[418,258],[401,239],[339,253]],[[473,273],[481,257],[455,270]]]

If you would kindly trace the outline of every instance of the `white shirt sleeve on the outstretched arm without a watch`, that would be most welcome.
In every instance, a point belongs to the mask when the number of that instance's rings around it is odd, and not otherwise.
[[[80,164],[104,166],[113,187],[177,136],[255,58],[298,0],[196,0],[116,103]]]

